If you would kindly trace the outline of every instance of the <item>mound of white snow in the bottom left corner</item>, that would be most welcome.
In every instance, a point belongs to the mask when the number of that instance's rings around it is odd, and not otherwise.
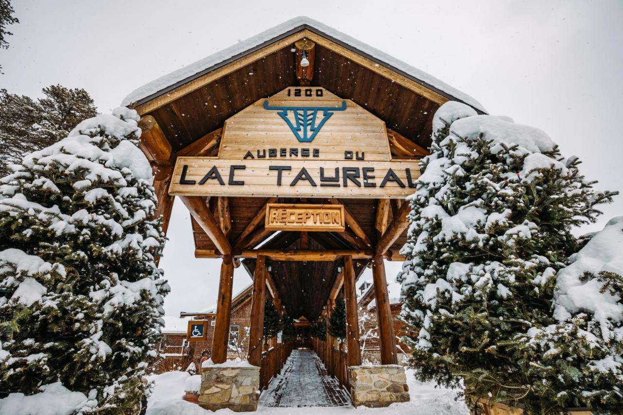
[[[83,406],[90,404],[87,396],[72,392],[60,382],[41,386],[41,393],[24,396],[11,393],[0,399],[2,415],[71,415]]]

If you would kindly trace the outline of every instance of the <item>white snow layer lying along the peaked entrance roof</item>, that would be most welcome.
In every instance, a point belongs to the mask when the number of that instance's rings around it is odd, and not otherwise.
[[[325,24],[315,21],[314,19],[310,19],[310,17],[307,16],[294,17],[293,19],[285,21],[282,24],[278,24],[277,26],[272,27],[267,31],[261,32],[260,34],[257,34],[253,37],[249,37],[249,39],[245,41],[238,42],[237,44],[227,47],[220,52],[216,52],[215,54],[205,57],[204,59],[197,60],[197,62],[194,62],[193,64],[187,65],[178,70],[174,70],[168,75],[164,75],[156,80],[148,82],[142,87],[137,88],[136,90],[131,92],[127,97],[123,98],[123,102],[121,102],[121,105],[123,107],[126,107],[133,102],[137,102],[143,98],[150,97],[150,95],[154,95],[158,92],[164,93],[164,89],[171,87],[171,85],[182,82],[184,80],[188,81],[195,75],[199,74],[199,72],[204,72],[207,69],[213,67],[214,65],[221,64],[227,59],[234,58],[236,55],[244,54],[250,49],[254,49],[258,45],[264,44],[265,42],[268,42],[275,37],[292,31],[293,29],[297,29],[301,26],[308,26],[315,29],[315,31],[320,32],[320,34],[333,37],[337,41],[348,44],[351,47],[358,49],[360,52],[363,52],[364,54],[367,54],[374,59],[380,60],[389,67],[397,69],[399,72],[404,72],[404,74],[421,80],[422,82],[428,83],[432,87],[437,88],[448,95],[451,95],[455,98],[455,100],[461,100],[469,105],[472,105],[472,107],[481,110],[482,112],[486,112],[480,102],[470,97],[466,93],[460,92],[459,90],[451,87],[447,83],[433,77],[432,75],[427,74],[426,72],[422,72],[421,70],[414,68],[411,65],[406,64],[401,60],[398,60],[384,53],[381,50],[378,50],[374,47],[371,47],[370,45],[360,42],[357,39],[348,36],[347,34],[333,29],[333,27],[326,26]]]

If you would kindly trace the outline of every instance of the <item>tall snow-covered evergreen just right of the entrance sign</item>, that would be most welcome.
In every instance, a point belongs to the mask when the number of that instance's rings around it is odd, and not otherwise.
[[[577,158],[510,118],[449,102],[433,128],[399,275],[412,366],[425,381],[463,380],[470,399],[564,408],[515,346],[553,323],[554,277],[578,247],[571,229],[593,222],[613,193],[594,191]]]

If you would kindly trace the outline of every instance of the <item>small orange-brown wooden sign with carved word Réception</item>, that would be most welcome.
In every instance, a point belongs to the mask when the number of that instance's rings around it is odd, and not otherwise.
[[[266,206],[265,228],[270,231],[344,231],[341,204],[282,204]]]

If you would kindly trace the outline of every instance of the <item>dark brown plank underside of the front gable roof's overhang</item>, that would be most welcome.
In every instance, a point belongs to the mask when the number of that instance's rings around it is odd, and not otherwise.
[[[417,145],[430,145],[437,103],[320,45],[315,65],[313,86],[353,100]],[[250,104],[292,85],[297,85],[295,54],[288,46],[142,115],[153,116],[178,151]]]

